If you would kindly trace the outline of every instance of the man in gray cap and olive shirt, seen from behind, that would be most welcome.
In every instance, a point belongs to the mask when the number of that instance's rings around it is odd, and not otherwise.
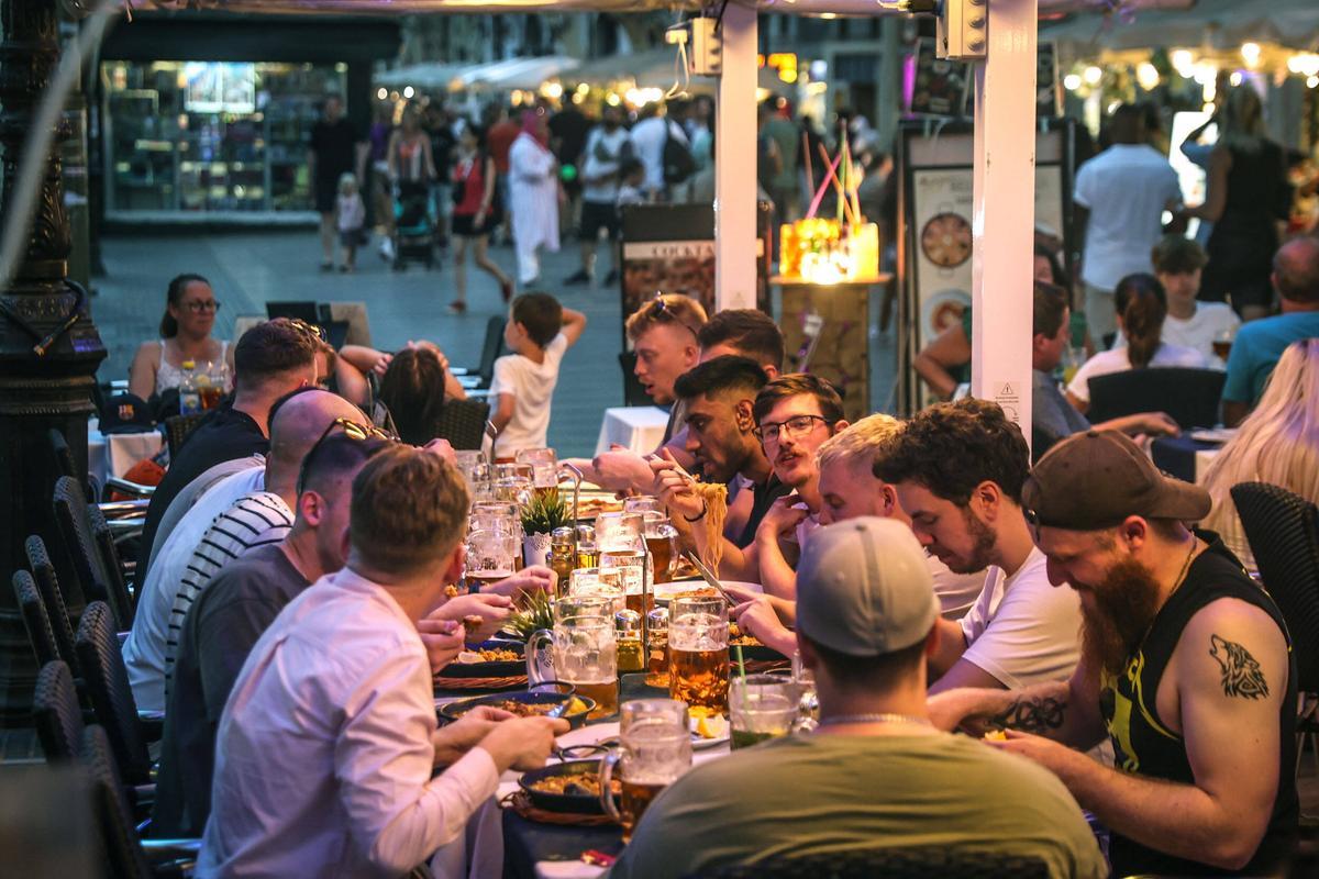
[[[910,528],[876,517],[822,527],[797,590],[819,729],[692,768],[650,805],[609,876],[919,846],[1035,858],[1054,878],[1108,875],[1058,779],[930,725],[939,601]]]

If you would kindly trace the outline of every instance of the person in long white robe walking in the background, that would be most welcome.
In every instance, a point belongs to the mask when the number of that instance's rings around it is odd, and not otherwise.
[[[517,279],[524,287],[541,277],[539,248],[559,249],[558,165],[550,152],[550,124],[543,111],[522,115],[522,133],[508,153],[509,202]]]

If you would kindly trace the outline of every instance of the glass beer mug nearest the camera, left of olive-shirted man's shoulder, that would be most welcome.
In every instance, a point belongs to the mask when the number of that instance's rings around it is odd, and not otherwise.
[[[600,805],[623,825],[623,841],[632,839],[641,816],[660,791],[691,767],[687,706],[671,698],[627,702],[619,717],[619,750],[600,760]],[[619,803],[612,779],[623,787]]]

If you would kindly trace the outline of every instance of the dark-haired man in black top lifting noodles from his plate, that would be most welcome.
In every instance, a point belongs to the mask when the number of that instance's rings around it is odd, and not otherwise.
[[[776,499],[791,489],[774,476],[765,451],[756,439],[752,406],[769,378],[754,360],[724,354],[687,370],[674,382],[674,393],[687,406],[686,451],[696,460],[706,482],[751,484],[751,515],[733,535],[724,534],[719,575],[729,580],[756,580],[758,567],[752,544],[756,528]],[[663,452],[652,463],[656,490],[673,514],[679,534],[690,535],[696,551],[706,551],[704,526],[696,525],[707,507],[691,489],[690,476]]]

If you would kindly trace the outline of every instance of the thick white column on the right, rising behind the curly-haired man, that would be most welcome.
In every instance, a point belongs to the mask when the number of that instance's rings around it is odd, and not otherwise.
[[[1002,406],[1029,443],[1037,0],[988,8],[988,58],[976,65],[971,393]]]

